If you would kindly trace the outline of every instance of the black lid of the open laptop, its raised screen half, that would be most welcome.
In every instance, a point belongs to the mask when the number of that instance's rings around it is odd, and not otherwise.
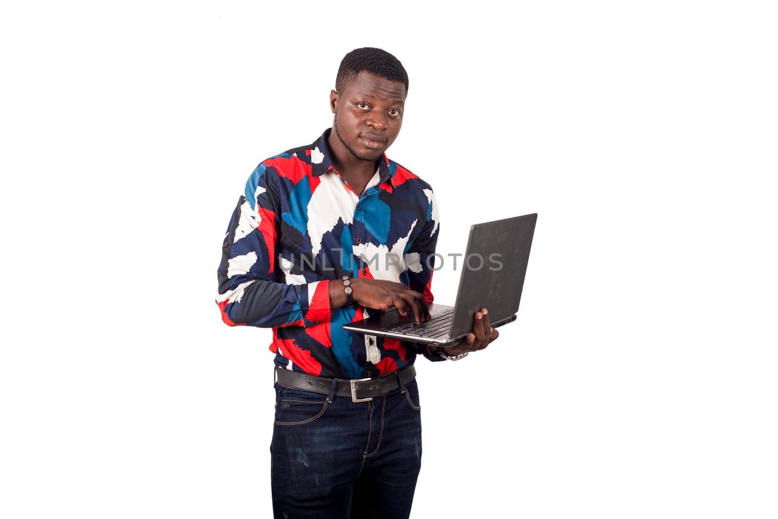
[[[470,332],[481,308],[489,310],[489,322],[518,312],[537,220],[533,213],[471,225],[461,258],[452,337]]]

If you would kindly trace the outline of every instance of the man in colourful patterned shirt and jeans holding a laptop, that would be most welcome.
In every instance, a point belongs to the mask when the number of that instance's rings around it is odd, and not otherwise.
[[[342,329],[391,306],[429,318],[436,200],[384,154],[407,92],[391,54],[346,54],[333,127],[258,165],[224,239],[223,321],[273,329],[275,517],[408,517],[422,454],[415,355],[457,359],[498,336],[485,308],[445,349]]]

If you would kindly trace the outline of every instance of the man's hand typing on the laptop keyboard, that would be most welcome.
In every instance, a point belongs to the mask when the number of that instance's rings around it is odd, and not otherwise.
[[[416,322],[429,319],[429,308],[424,296],[404,284],[366,277],[352,277],[351,288],[352,297],[357,305],[376,310],[384,310],[394,306],[402,316],[413,312]]]

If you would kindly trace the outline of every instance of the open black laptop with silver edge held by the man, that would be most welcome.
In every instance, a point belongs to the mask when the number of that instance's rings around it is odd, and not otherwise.
[[[428,303],[429,319],[424,322],[415,322],[413,312],[403,317],[397,308],[387,308],[343,329],[447,346],[471,333],[481,308],[489,310],[492,328],[515,321],[537,219],[533,213],[470,226],[467,252],[457,257],[461,274],[454,306]]]

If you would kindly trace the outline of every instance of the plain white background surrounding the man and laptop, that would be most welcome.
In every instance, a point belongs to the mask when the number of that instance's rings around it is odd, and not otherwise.
[[[418,359],[412,517],[776,517],[769,3],[2,8],[0,515],[271,515],[271,332],[219,319],[220,245],[375,46],[439,252],[539,214],[517,322]]]

